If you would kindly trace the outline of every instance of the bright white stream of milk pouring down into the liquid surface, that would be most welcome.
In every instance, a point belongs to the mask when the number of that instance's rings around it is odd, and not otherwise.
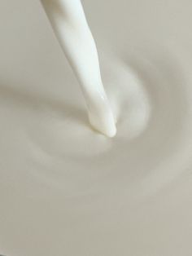
[[[113,114],[103,88],[94,38],[80,0],[41,0],[63,51],[81,83],[90,124],[104,135],[116,135]]]

